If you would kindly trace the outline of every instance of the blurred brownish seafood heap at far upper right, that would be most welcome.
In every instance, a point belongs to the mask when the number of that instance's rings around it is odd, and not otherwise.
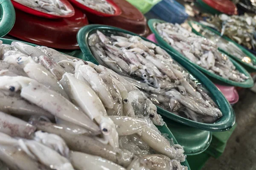
[[[256,17],[247,14],[231,16],[220,14],[208,18],[207,23],[217,28],[221,35],[226,35],[248,49],[256,49]]]

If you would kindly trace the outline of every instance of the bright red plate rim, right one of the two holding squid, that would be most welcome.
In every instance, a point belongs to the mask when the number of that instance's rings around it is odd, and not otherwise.
[[[118,5],[116,5],[116,3],[114,3],[112,0],[106,0],[106,1],[113,6],[113,8],[115,10],[114,14],[106,14],[106,13],[103,13],[103,12],[100,12],[100,11],[96,11],[92,8],[89,8],[88,6],[85,6],[81,3],[79,3],[76,0],[69,0],[69,1],[72,4],[74,4],[76,7],[80,8],[80,9],[83,9],[84,11],[87,11],[87,12],[90,12],[91,14],[96,14],[96,15],[99,15],[99,16],[102,16],[102,17],[114,17],[114,16],[118,16],[118,15],[122,14],[122,11],[121,11],[120,7]]]

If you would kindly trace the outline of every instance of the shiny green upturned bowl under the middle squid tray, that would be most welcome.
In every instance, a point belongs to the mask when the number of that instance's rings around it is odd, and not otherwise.
[[[184,148],[186,155],[198,155],[209,147],[212,141],[212,132],[184,126],[164,116],[162,118],[177,142]]]

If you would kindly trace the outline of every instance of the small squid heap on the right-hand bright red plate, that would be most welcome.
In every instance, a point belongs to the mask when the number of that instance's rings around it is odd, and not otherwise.
[[[77,2],[105,14],[114,14],[115,9],[106,0],[76,0]]]

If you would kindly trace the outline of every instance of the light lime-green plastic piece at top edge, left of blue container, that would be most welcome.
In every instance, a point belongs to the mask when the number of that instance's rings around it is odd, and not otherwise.
[[[143,14],[147,13],[154,5],[161,0],[126,0],[138,8]]]

